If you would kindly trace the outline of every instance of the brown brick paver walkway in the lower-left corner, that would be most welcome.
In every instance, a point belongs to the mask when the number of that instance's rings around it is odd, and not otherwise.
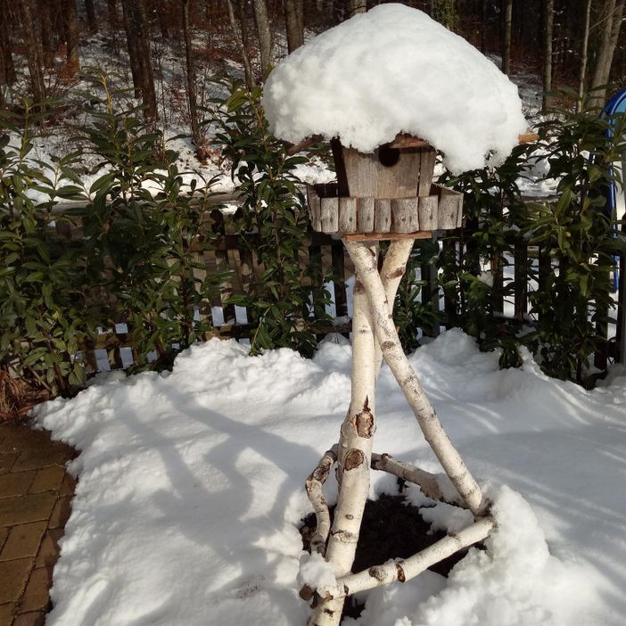
[[[0,626],[40,626],[75,482],[75,451],[28,424],[0,423]]]

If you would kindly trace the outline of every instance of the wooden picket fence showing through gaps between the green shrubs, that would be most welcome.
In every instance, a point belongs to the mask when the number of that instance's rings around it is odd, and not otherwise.
[[[232,196],[216,195],[212,203],[236,202]],[[67,207],[66,207],[67,208]],[[55,212],[63,212],[64,207],[57,207]],[[253,328],[248,323],[248,312],[243,307],[235,307],[228,302],[233,293],[243,293],[250,287],[251,281],[258,273],[257,259],[251,250],[254,248],[254,240],[259,235],[245,235],[246,243],[243,243],[243,235],[238,235],[228,226],[229,221],[224,218],[221,210],[214,209],[210,212],[210,223],[215,231],[216,238],[212,242],[210,251],[202,252],[202,264],[207,275],[230,271],[231,278],[220,285],[218,295],[210,302],[204,303],[199,314],[202,317],[210,317],[214,330],[210,336],[233,337],[238,341],[245,341],[251,337]],[[71,240],[80,236],[80,229],[72,228],[66,221],[57,221],[56,232],[59,237]],[[471,228],[459,228],[456,231],[447,232],[441,240],[441,250],[457,256],[465,250],[466,242],[471,235]],[[453,235],[450,237],[449,235]],[[313,231],[309,232],[308,253],[302,255],[302,261],[306,263],[310,255],[320,255],[323,271],[334,269],[337,279],[331,288],[331,296],[334,301],[334,323],[329,324],[323,334],[348,334],[350,332],[349,299],[350,292],[347,288],[350,276],[353,274],[350,258],[344,251],[342,241],[333,235],[323,235]],[[424,242],[417,241],[416,245]],[[532,325],[528,317],[530,309],[529,296],[532,291],[545,288],[546,279],[555,261],[546,253],[542,253],[536,247],[529,246],[523,240],[515,243],[515,251],[505,258],[499,256],[492,262],[490,273],[493,278],[491,289],[491,302],[494,310],[501,310],[503,317],[515,319],[520,325]],[[624,259],[620,261],[622,266],[621,276],[624,276]],[[537,276],[536,281],[529,280],[529,268],[531,274]],[[480,271],[482,268],[476,268]],[[444,318],[450,318],[455,306],[447,295],[441,290],[438,282],[437,268],[424,264],[419,270],[419,280],[423,281],[422,301],[430,303],[435,311],[441,311]],[[513,281],[513,298],[504,298],[504,286]],[[623,310],[626,304],[626,291],[624,281],[620,281],[618,306],[613,314],[617,317],[616,325],[603,325],[598,328],[599,332],[607,339],[605,350],[594,356],[594,363],[598,369],[605,369],[609,359],[622,361],[626,341],[622,332],[624,323]],[[106,294],[104,294],[106,298]],[[128,333],[125,320],[120,319],[114,329],[100,334],[95,342],[87,342],[84,345],[83,358],[86,362],[87,372],[95,372],[103,369],[117,369],[128,367],[136,361],[134,346]],[[424,335],[436,336],[441,332],[444,325],[421,329]],[[150,358],[150,355],[148,355]]]

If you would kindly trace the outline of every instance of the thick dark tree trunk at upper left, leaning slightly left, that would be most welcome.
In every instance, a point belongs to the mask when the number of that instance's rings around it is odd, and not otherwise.
[[[157,118],[156,91],[152,75],[149,25],[144,0],[122,0],[124,26],[128,41],[128,56],[133,73],[135,93],[139,92],[144,103],[144,118]]]

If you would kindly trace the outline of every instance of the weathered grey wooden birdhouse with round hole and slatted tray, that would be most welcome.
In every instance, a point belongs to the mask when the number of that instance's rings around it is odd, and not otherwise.
[[[337,183],[308,188],[318,232],[409,234],[461,226],[463,194],[432,185],[436,152],[424,140],[398,135],[370,153],[338,139],[332,146]]]

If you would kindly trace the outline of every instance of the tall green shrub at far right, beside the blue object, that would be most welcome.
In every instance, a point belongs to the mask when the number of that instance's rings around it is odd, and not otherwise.
[[[552,259],[546,283],[531,293],[538,324],[527,341],[548,375],[586,383],[591,355],[605,350],[614,254],[626,251],[605,197],[608,185],[622,185],[612,166],[626,148],[624,119],[557,112],[540,125],[556,201],[531,204],[524,229]],[[616,125],[611,140],[609,124]]]

